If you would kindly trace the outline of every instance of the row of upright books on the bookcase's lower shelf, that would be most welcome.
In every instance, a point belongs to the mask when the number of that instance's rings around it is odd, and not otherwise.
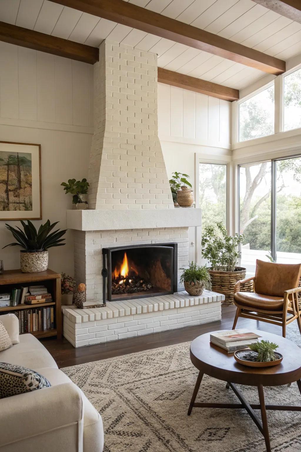
[[[54,329],[54,308],[22,309],[14,311],[19,320],[19,333],[32,333],[34,331]]]

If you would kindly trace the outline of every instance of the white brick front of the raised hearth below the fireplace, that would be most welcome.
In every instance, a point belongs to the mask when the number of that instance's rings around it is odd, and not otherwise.
[[[87,322],[76,322],[72,313],[68,315],[70,307],[65,306],[67,309],[63,307],[63,334],[74,347],[83,347],[221,320],[221,300],[224,297],[211,293],[211,297],[199,300],[199,304],[191,306]],[[186,297],[189,296],[186,294]],[[189,298],[192,302],[193,297]],[[196,298],[198,297],[194,298],[194,302]],[[74,314],[76,311],[81,310],[74,310]]]

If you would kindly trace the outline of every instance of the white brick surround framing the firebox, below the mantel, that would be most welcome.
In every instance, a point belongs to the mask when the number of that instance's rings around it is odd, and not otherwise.
[[[178,244],[178,269],[189,264],[188,228],[74,231],[76,282],[87,285],[87,300],[102,300],[102,248],[155,243]],[[178,270],[178,285],[181,271]],[[179,286],[180,287],[180,286]]]

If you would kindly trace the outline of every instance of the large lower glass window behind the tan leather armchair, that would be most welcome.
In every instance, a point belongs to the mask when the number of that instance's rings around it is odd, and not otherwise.
[[[239,166],[241,265],[301,262],[301,157]]]

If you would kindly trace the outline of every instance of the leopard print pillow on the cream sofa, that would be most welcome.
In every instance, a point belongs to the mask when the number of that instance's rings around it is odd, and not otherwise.
[[[50,386],[49,381],[34,370],[16,364],[0,363],[0,399]]]

